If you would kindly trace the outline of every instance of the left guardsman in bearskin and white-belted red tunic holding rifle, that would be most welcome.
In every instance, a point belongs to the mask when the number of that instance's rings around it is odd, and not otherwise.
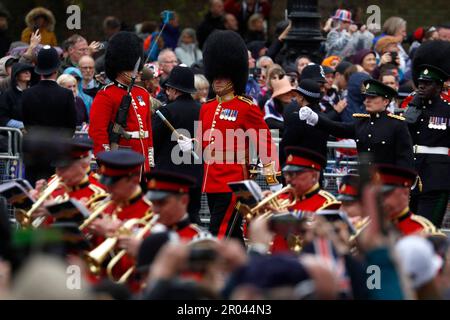
[[[109,41],[105,55],[105,71],[113,83],[97,93],[90,114],[89,136],[94,141],[95,155],[111,148],[110,128],[116,122],[120,102],[127,94],[136,61],[142,55],[142,43],[131,32],[119,32]],[[148,172],[153,166],[150,95],[147,90],[135,85],[131,90],[131,96],[127,124],[124,128],[128,137],[122,136],[118,144],[119,148],[131,148],[142,154],[146,159],[144,171]]]

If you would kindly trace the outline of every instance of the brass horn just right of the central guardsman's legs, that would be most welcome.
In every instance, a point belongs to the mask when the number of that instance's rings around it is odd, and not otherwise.
[[[279,199],[283,194],[288,194],[289,197],[286,199]],[[273,210],[277,212],[287,211],[289,207],[293,206],[297,201],[297,196],[295,195],[295,189],[291,185],[287,185],[281,190],[274,192],[264,199],[262,199],[256,206],[250,208],[248,205],[239,203],[237,206],[238,211],[244,216],[247,221],[253,218],[273,213]],[[267,207],[270,206],[271,209]]]

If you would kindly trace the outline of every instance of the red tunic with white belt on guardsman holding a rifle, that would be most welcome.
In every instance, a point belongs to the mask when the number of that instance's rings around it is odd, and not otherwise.
[[[100,90],[95,96],[90,113],[89,136],[94,142],[94,154],[109,150],[109,127],[116,120],[122,97],[127,94],[126,86],[113,83]],[[145,156],[144,171],[153,166],[153,140],[151,128],[150,95],[142,87],[134,86],[131,90],[132,103],[127,117],[125,131],[141,134],[129,140],[119,140],[120,147],[129,147]]]

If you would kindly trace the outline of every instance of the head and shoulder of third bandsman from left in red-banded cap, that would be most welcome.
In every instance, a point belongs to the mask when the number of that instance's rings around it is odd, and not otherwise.
[[[189,221],[187,212],[189,188],[195,184],[193,178],[155,170],[147,175],[147,181],[146,197],[153,203],[154,214],[159,215],[159,224],[175,231],[185,242],[204,232],[198,225]]]

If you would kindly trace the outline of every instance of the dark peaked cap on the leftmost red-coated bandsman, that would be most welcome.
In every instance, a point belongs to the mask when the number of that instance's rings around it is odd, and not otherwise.
[[[86,158],[92,150],[92,140],[86,137],[75,137],[61,141],[63,152],[55,155],[51,165],[57,168],[67,167],[73,162]]]

